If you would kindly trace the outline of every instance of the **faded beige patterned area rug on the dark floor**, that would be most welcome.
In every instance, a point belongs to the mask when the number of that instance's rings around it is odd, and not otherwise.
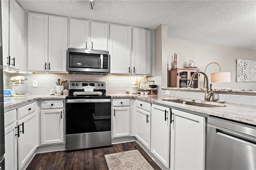
[[[138,150],[104,155],[109,170],[154,170]]]

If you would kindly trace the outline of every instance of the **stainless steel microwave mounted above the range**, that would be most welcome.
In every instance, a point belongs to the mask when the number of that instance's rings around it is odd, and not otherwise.
[[[68,48],[68,73],[108,74],[108,51]]]

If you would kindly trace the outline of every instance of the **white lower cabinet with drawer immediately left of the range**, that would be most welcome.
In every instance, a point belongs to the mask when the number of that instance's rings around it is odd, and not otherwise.
[[[64,117],[63,99],[41,101],[41,145],[64,143]]]

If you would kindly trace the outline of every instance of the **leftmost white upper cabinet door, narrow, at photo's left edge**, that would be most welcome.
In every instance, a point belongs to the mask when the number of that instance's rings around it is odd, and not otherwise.
[[[2,10],[2,42],[3,42],[3,66],[8,66],[9,61],[9,1],[1,1]]]

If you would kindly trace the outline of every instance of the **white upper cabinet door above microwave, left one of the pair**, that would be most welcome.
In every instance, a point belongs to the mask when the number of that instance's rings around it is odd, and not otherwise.
[[[70,48],[86,49],[88,43],[88,21],[70,19]],[[87,46],[86,46],[87,44]]]

